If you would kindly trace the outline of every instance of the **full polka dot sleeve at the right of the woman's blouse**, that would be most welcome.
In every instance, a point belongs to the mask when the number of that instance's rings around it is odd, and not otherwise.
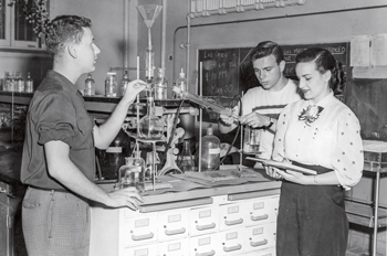
[[[357,184],[363,175],[364,153],[360,137],[360,125],[349,110],[343,110],[336,122],[333,135],[334,147],[331,151],[331,164],[341,185],[349,189]]]

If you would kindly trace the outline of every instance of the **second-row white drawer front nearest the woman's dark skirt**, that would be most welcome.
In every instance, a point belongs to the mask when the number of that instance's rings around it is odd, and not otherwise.
[[[276,224],[268,223],[245,228],[245,250],[261,250],[275,246]]]

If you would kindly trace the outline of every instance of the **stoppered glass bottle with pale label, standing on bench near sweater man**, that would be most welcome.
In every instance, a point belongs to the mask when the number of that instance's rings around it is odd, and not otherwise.
[[[220,140],[213,135],[212,127],[207,128],[207,135],[201,138],[201,170],[213,171],[220,163]]]

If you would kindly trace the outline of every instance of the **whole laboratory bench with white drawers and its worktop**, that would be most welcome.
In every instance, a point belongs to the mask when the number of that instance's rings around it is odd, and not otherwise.
[[[159,177],[171,188],[144,192],[138,211],[94,204],[91,255],[274,256],[281,182],[264,169],[254,172],[228,181],[209,181],[205,173]]]

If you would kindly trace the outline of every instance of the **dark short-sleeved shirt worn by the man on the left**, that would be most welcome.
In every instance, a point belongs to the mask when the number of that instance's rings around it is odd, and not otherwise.
[[[44,143],[61,140],[70,160],[92,180],[95,174],[93,120],[76,86],[49,71],[30,103],[21,164],[21,181],[42,189],[65,189],[48,171]]]

